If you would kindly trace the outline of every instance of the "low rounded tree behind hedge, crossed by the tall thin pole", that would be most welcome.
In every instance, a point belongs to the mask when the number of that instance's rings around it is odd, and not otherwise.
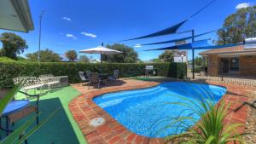
[[[32,54],[27,54],[26,57],[28,60],[37,61],[38,60],[38,51]],[[40,61],[41,62],[56,62],[61,61],[61,56],[56,54],[50,49],[45,49],[40,51]]]

